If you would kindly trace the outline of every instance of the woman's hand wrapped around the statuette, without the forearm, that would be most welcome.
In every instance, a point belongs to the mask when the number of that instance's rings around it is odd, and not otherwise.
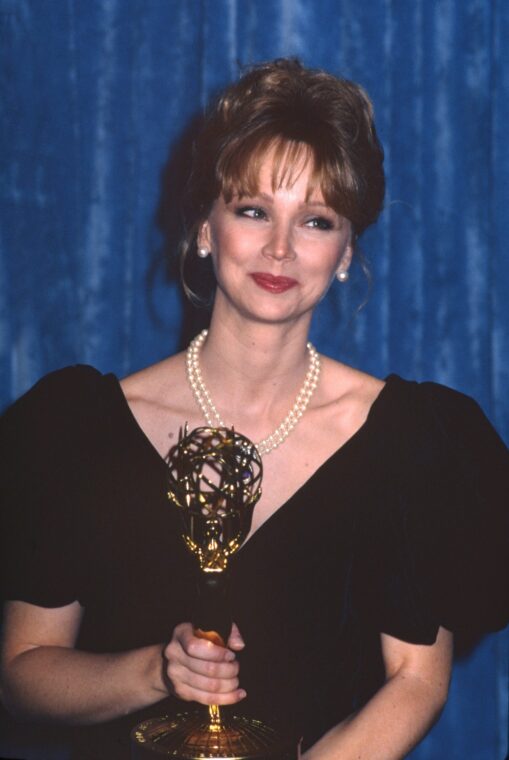
[[[239,663],[235,652],[244,648],[239,629],[233,624],[226,647],[200,639],[191,623],[178,625],[165,647],[165,677],[169,689],[180,699],[202,705],[233,705],[244,699],[239,689]]]

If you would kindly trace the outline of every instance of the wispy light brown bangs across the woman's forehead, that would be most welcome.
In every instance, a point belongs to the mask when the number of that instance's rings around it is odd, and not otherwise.
[[[226,146],[216,166],[217,196],[229,203],[233,197],[257,195],[261,167],[269,153],[272,192],[293,187],[311,162],[306,201],[320,190],[328,206],[353,221],[355,183],[346,166],[338,165],[337,148],[327,150],[323,143],[315,146],[283,135],[250,135],[241,144]]]

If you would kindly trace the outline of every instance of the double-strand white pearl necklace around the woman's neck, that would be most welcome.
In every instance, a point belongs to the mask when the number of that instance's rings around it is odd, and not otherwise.
[[[219,412],[210,397],[210,393],[207,390],[205,383],[203,382],[200,370],[200,349],[207,334],[208,330],[202,330],[202,332],[199,333],[199,335],[197,335],[189,344],[186,353],[187,380],[196,402],[203,412],[207,425],[209,427],[226,427],[219,416]],[[267,436],[267,438],[264,438],[263,441],[256,444],[260,456],[268,454],[288,438],[306,411],[308,404],[311,401],[311,397],[315,392],[315,388],[318,385],[318,378],[320,377],[320,357],[311,343],[307,344],[307,349],[309,353],[309,368],[306,377],[304,378],[304,383],[297,394],[294,405],[284,418],[283,422],[273,433]]]

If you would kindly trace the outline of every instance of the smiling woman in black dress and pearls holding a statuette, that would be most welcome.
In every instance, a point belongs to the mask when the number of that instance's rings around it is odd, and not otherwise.
[[[120,383],[54,373],[7,413],[3,698],[78,724],[83,757],[178,698],[277,721],[309,760],[401,758],[445,702],[450,631],[506,624],[509,458],[482,412],[307,343],[381,209],[382,162],[361,88],[255,67],[209,113],[189,183],[208,333]],[[233,424],[263,455],[227,648],[188,622],[163,461],[185,422]]]

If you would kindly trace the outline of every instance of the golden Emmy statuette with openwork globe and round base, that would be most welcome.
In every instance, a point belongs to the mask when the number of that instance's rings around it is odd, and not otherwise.
[[[197,559],[196,636],[225,646],[232,621],[228,562],[246,539],[261,496],[256,446],[228,428],[196,428],[167,458],[168,498],[178,508],[182,538]],[[270,688],[270,685],[267,685]],[[225,718],[218,705],[150,718],[131,732],[133,760],[296,760],[297,746],[254,718]]]

